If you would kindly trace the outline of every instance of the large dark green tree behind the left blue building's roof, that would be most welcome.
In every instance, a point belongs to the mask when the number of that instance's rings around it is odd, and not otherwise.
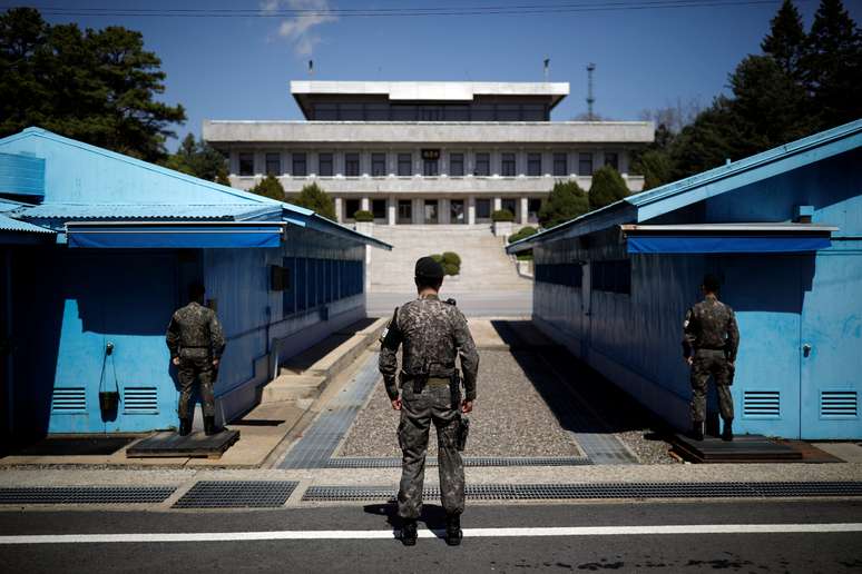
[[[121,154],[158,161],[183,106],[165,91],[159,58],[139,32],[81,31],[47,23],[38,10],[0,14],[0,137],[39,126]]]

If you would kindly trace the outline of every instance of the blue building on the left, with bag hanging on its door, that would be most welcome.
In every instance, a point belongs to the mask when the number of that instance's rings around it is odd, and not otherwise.
[[[203,281],[227,336],[217,418],[277,365],[365,317],[368,245],[313,211],[37,128],[0,139],[3,429],[176,426],[165,329]],[[112,353],[106,349],[112,346]],[[98,393],[120,392],[117,412]]]

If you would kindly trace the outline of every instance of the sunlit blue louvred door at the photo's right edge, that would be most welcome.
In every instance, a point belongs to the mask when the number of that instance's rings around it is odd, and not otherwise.
[[[805,293],[801,340],[803,438],[860,438],[862,255],[825,251]]]

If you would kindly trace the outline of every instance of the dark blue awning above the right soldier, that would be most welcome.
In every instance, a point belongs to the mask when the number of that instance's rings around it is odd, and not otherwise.
[[[685,237],[640,236],[628,238],[630,254],[768,254],[826,249],[829,237]]]

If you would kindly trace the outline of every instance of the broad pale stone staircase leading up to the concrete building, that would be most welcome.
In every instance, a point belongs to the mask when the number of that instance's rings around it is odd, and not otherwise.
[[[532,281],[518,275],[488,225],[375,225],[375,238],[393,246],[391,251],[371,249],[370,293],[415,291],[413,267],[417,259],[431,254],[454,251],[461,256],[461,274],[444,279],[445,291],[480,293],[529,291]]]

